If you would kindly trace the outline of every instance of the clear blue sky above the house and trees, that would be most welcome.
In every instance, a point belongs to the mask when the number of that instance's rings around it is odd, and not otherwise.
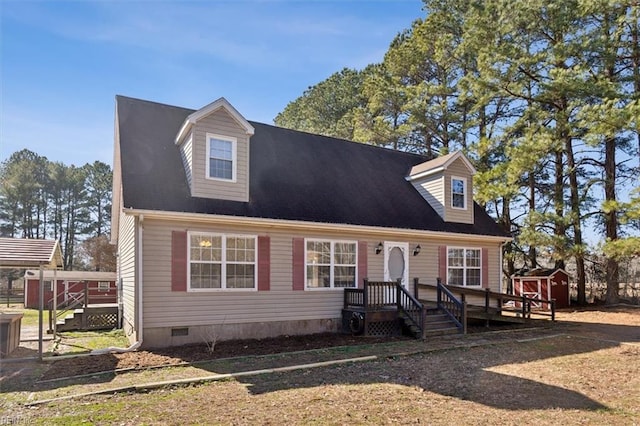
[[[0,161],[112,163],[116,94],[187,108],[224,96],[272,123],[344,67],[382,60],[420,0],[0,0]]]

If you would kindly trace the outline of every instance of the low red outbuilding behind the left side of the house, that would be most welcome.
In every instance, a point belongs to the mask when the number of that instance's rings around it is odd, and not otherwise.
[[[65,306],[71,300],[87,297],[87,304],[114,304],[118,302],[115,272],[96,271],[43,271],[44,305],[53,308],[54,281],[57,282],[57,306]],[[40,308],[40,273],[27,270],[24,274],[24,306]]]

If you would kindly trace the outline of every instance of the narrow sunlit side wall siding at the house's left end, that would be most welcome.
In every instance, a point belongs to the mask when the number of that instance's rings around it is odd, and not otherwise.
[[[125,320],[135,324],[135,218],[120,214],[120,231],[118,239],[118,279],[122,279],[123,316]]]

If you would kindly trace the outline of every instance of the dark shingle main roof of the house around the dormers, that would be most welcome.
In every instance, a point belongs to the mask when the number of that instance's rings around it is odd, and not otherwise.
[[[249,202],[191,197],[174,141],[194,110],[118,96],[117,111],[125,208],[504,236],[478,205],[474,225],[444,222],[405,180],[420,155],[255,122]]]

